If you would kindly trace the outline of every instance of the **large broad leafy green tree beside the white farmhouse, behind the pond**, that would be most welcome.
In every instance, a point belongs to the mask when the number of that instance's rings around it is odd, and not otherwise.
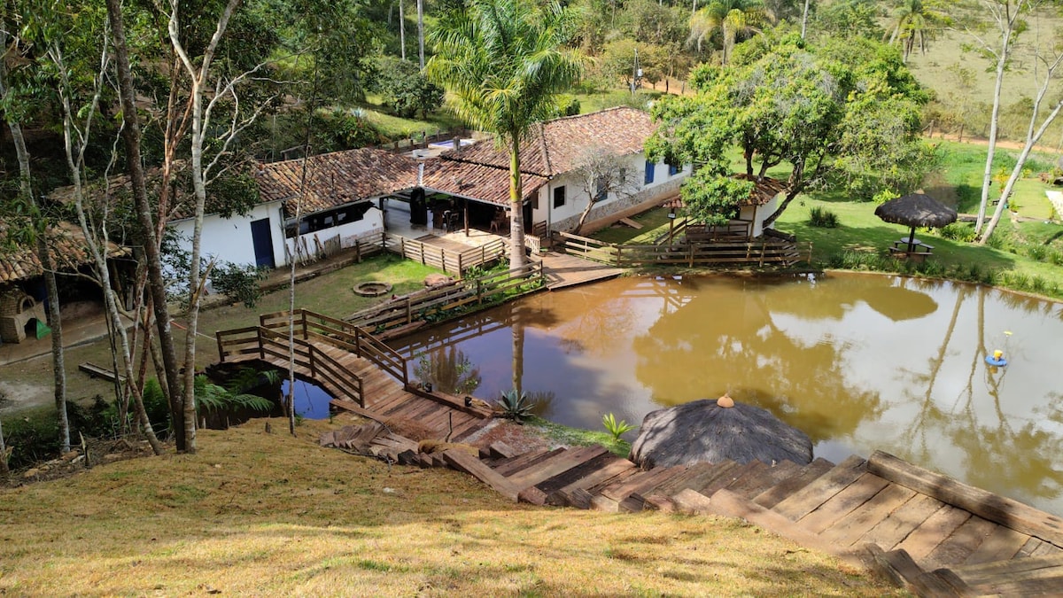
[[[909,190],[933,165],[919,137],[927,95],[895,49],[870,40],[806,46],[794,34],[743,52],[731,68],[703,65],[694,97],[654,105],[662,127],[646,143],[652,160],[701,165],[684,185],[695,212],[718,213],[745,189],[729,178],[730,153],[742,152],[757,180],[778,167],[786,197],[765,223],[810,185],[871,197],[882,187]]]

